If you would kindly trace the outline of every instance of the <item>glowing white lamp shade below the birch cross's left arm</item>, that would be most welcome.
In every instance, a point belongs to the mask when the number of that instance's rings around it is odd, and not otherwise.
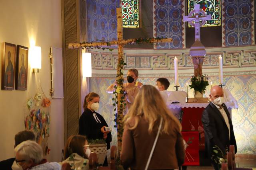
[[[82,53],[83,77],[92,77],[92,54]]]

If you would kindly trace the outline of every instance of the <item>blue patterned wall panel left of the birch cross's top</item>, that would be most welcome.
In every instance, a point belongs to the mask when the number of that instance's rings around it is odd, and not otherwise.
[[[117,39],[116,8],[119,0],[87,0],[88,41]]]

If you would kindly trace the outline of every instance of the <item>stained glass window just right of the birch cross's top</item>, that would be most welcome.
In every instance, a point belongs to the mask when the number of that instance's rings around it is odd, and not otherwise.
[[[123,27],[139,27],[139,0],[122,0]]]

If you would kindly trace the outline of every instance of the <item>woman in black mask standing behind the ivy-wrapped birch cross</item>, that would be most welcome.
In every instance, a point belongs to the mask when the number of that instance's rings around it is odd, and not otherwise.
[[[140,86],[142,86],[141,82],[136,81],[138,79],[139,72],[137,69],[132,68],[128,70],[127,72],[127,83],[124,83],[124,90],[126,91],[126,113],[128,112],[128,109],[132,106],[134,102],[134,98],[140,91]],[[114,86],[117,86],[117,83],[111,84],[106,92],[107,93],[113,93],[116,89]]]

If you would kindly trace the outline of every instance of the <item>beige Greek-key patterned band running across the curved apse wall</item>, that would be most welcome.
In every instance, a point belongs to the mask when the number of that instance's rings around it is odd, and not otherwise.
[[[247,49],[246,49],[247,48]],[[231,51],[232,49],[232,51]],[[219,55],[223,56],[223,64],[225,67],[251,67],[256,66],[256,47],[238,48],[223,48],[216,49],[216,52],[208,52],[204,58],[203,67],[218,68]],[[237,50],[237,51],[234,51]],[[219,52],[223,51],[223,52]],[[112,52],[96,52],[92,53],[92,66],[96,70],[114,70],[116,68],[118,54]],[[189,54],[184,50],[180,53],[164,53],[166,51],[157,51],[159,53],[135,53],[132,50],[124,51],[124,61],[126,68],[141,68],[146,70],[172,70],[174,69],[174,58],[178,58],[178,65],[180,69],[193,68],[193,61]]]

